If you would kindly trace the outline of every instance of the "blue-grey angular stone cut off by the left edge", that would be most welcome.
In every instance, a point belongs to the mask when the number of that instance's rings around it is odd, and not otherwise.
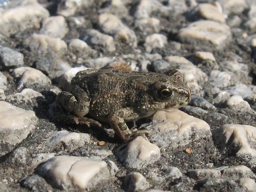
[[[22,53],[0,45],[0,70],[23,66],[23,57]]]

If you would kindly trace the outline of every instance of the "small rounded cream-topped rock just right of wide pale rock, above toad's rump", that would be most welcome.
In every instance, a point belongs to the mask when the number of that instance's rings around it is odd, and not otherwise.
[[[69,50],[75,54],[76,57],[82,59],[88,59],[91,57],[97,57],[97,51],[90,48],[86,42],[80,39],[71,39],[68,42]]]

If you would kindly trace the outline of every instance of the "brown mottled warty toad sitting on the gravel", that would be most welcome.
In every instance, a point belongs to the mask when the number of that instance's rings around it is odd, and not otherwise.
[[[144,136],[132,132],[126,121],[148,117],[156,111],[180,108],[191,99],[190,89],[177,70],[164,74],[107,68],[80,71],[71,81],[70,92],[56,98],[59,121],[76,124],[109,122],[125,142]],[[89,114],[94,119],[86,116]]]

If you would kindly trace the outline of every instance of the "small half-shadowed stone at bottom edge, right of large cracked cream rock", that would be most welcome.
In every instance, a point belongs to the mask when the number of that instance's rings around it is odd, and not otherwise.
[[[126,191],[144,191],[150,188],[150,183],[140,173],[131,173],[124,177],[124,186]]]

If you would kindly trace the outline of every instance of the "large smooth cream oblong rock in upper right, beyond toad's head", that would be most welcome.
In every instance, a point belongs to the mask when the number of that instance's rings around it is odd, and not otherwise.
[[[178,38],[181,42],[189,44],[203,43],[214,45],[221,49],[225,47],[231,38],[230,28],[225,24],[213,22],[211,20],[199,20],[182,28],[178,32]]]

